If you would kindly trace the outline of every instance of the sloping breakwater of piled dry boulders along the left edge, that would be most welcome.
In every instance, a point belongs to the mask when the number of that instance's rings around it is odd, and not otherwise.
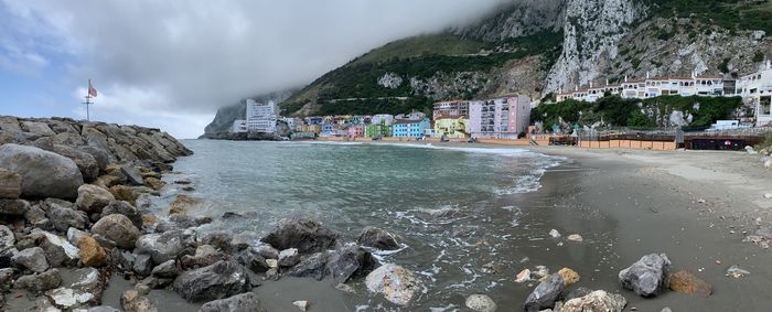
[[[152,219],[137,201],[191,153],[158,129],[0,116],[0,311],[10,291],[29,294],[21,309],[99,305],[110,260]]]

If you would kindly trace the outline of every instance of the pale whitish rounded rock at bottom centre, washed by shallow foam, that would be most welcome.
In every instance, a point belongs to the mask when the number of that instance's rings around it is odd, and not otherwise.
[[[383,294],[386,300],[398,305],[408,305],[421,291],[420,281],[407,269],[397,265],[383,265],[367,275],[367,289]]]

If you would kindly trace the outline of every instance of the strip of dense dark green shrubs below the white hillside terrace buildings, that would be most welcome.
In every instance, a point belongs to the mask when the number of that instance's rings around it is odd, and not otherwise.
[[[640,100],[607,96],[596,103],[569,99],[542,104],[533,109],[530,116],[533,121],[542,121],[545,126],[559,125],[562,118],[570,125],[586,126],[603,120],[613,127],[653,128],[665,123],[671,112],[678,110],[693,116],[688,126],[706,127],[728,118],[741,105],[740,97],[662,96]],[[657,116],[661,120],[656,119]]]

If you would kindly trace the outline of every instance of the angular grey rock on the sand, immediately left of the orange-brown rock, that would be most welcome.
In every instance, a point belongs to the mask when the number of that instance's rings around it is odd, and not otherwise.
[[[656,297],[666,286],[669,267],[671,260],[665,254],[650,254],[621,270],[619,281],[639,295]]]

